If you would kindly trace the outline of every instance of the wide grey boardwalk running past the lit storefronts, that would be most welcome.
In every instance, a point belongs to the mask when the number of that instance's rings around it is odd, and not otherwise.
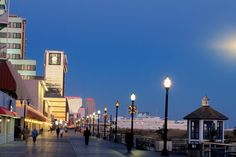
[[[23,141],[14,141],[0,145],[0,157],[158,157],[160,154],[153,151],[132,150],[128,154],[125,145],[90,138],[88,146],[84,144],[84,137],[73,131],[65,134],[64,138],[57,139],[55,134],[47,133],[39,136],[37,143],[32,139],[28,144]],[[170,155],[170,157],[183,157]]]

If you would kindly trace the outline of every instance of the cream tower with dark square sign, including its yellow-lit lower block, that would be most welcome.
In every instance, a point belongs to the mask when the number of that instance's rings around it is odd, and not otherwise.
[[[67,121],[69,117],[68,101],[64,97],[67,57],[63,51],[46,50],[44,60],[44,81],[47,92],[44,100],[51,109],[53,121]]]

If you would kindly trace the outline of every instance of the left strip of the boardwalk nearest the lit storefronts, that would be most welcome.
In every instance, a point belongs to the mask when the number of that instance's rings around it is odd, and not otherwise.
[[[39,136],[36,144],[29,138],[24,141],[14,141],[0,145],[0,157],[76,157],[76,154],[66,138],[57,139],[55,135]]]

